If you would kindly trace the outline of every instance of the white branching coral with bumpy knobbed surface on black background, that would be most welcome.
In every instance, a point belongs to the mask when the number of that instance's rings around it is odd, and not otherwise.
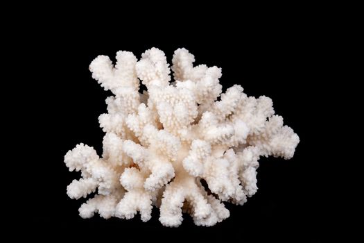
[[[64,156],[82,178],[67,187],[71,199],[96,192],[80,216],[142,221],[159,208],[164,226],[179,226],[182,212],[213,226],[229,217],[223,202],[243,205],[257,192],[259,156],[289,159],[299,137],[275,115],[268,97],[248,97],[234,85],[221,94],[221,69],[198,65],[186,49],[166,56],[152,48],[137,58],[116,53],[116,65],[98,56],[92,77],[114,94],[99,117],[103,155],[78,144]],[[139,93],[139,80],[148,90]]]

